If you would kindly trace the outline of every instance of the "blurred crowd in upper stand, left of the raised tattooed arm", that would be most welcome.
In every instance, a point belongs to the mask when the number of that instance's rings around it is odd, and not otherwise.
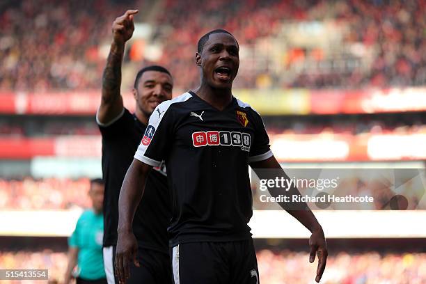
[[[0,89],[99,88],[118,1],[8,1],[0,13]]]

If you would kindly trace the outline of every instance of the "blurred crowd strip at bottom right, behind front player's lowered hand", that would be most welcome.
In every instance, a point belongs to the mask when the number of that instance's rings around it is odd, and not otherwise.
[[[258,251],[261,283],[314,283],[316,266],[308,253]],[[377,252],[329,255],[321,283],[324,284],[420,284],[426,282],[426,254]]]

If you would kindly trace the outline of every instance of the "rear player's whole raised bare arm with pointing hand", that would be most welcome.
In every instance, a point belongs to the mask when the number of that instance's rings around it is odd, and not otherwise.
[[[102,100],[97,110],[97,121],[108,124],[123,111],[123,97],[120,95],[121,63],[123,62],[125,42],[132,38],[133,17],[138,10],[127,10],[112,24],[113,42],[109,50],[107,65],[102,74]]]

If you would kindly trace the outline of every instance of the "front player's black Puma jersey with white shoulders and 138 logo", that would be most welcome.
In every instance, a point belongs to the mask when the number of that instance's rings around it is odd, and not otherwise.
[[[155,113],[134,157],[151,166],[166,161],[171,246],[250,238],[248,163],[272,156],[259,114],[235,97],[219,111],[193,92]]]

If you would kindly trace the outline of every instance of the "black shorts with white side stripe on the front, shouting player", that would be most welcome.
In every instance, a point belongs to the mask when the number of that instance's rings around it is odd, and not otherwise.
[[[172,248],[175,284],[259,284],[253,239],[194,242]]]

